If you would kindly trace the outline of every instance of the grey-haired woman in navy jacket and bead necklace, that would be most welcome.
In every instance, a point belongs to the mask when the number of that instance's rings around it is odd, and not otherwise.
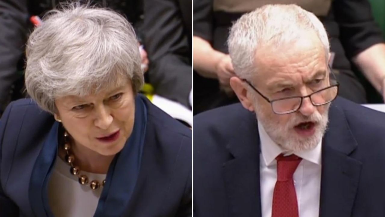
[[[0,120],[0,216],[191,216],[191,131],[145,97],[135,33],[78,3],[27,43]]]

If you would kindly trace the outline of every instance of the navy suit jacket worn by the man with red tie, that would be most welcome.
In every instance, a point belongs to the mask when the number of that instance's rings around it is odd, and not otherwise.
[[[194,217],[261,217],[259,134],[241,104],[194,117]],[[385,216],[385,114],[333,101],[320,217]]]

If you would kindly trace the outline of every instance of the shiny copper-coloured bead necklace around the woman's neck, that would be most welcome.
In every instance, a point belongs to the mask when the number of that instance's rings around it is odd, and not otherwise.
[[[92,180],[89,182],[88,176],[84,174],[80,174],[80,168],[78,166],[74,166],[75,156],[70,153],[71,145],[68,139],[68,133],[64,132],[64,150],[65,150],[65,161],[71,166],[70,173],[79,178],[79,183],[82,185],[89,185],[92,190],[98,189],[100,186],[105,185],[105,180],[100,184],[97,180]]]

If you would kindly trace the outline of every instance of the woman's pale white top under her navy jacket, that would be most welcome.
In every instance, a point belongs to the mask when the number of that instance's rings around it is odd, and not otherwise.
[[[89,182],[101,183],[106,174],[87,173]],[[81,185],[77,176],[70,173],[70,166],[59,156],[56,157],[49,185],[49,205],[55,217],[92,217],[99,201],[103,187],[92,190],[89,185]]]

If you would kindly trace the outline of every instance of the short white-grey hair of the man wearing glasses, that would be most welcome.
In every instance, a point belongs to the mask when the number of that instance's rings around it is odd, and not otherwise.
[[[250,78],[259,47],[298,40],[304,31],[315,31],[329,56],[329,40],[318,18],[297,5],[264,5],[244,14],[231,27],[228,38],[229,54],[236,75]]]

